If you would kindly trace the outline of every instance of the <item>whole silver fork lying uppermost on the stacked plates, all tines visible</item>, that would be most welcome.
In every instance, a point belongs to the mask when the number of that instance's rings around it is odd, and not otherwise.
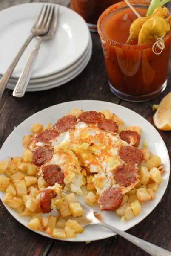
[[[29,37],[27,38],[27,40],[21,47],[20,51],[17,53],[17,55],[11,62],[10,66],[8,67],[8,69],[6,70],[6,72],[3,74],[3,76],[0,79],[0,101],[2,99],[3,92],[6,88],[6,85],[10,79],[10,76],[11,76],[12,72],[14,71],[14,68],[16,67],[24,50],[30,43],[31,39],[34,38],[34,36],[45,35],[48,32],[49,26],[51,24],[51,13],[52,13],[51,6],[49,6],[49,5],[42,6],[42,9],[40,10],[40,13],[37,16],[37,19],[34,23],[34,26],[31,29],[31,35],[29,35]]]

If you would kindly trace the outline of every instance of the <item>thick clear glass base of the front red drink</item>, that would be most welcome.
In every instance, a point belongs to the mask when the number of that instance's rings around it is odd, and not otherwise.
[[[108,83],[109,83],[109,87],[110,87],[112,93],[114,93],[120,99],[124,99],[125,101],[130,101],[130,102],[144,102],[144,101],[153,99],[153,98],[157,97],[160,93],[162,93],[165,90],[165,87],[167,86],[167,79],[165,80],[164,84],[162,84],[162,86],[158,90],[155,90],[152,93],[143,94],[143,95],[130,95],[130,94],[121,93],[120,91],[115,89],[110,84],[109,81],[108,81]]]

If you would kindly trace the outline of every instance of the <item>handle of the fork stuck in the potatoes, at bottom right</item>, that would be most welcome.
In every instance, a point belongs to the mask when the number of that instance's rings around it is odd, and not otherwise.
[[[124,237],[125,239],[137,245],[141,249],[145,250],[147,253],[151,254],[152,256],[171,256],[171,252],[169,252],[168,250],[165,250],[161,247],[158,247],[157,245],[144,241],[138,237],[132,236],[131,234],[128,234],[122,230],[118,230],[117,228],[112,227],[107,223],[104,223],[102,221],[97,221],[94,224],[101,225],[103,227],[106,227],[112,230],[114,233],[117,233],[118,235]]]

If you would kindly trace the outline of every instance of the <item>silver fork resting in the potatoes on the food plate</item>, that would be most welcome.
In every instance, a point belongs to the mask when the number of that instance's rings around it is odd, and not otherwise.
[[[78,202],[78,200],[77,200]],[[80,203],[80,202],[79,202]],[[100,225],[106,227],[107,229],[113,231],[114,233],[124,237],[128,241],[132,242],[133,244],[140,247],[142,250],[145,250],[147,253],[151,254],[152,256],[171,256],[171,252],[165,250],[157,245],[151,244],[147,241],[144,241],[136,236],[132,236],[122,230],[118,230],[116,227],[113,227],[103,221],[98,220],[94,216],[94,210],[86,206],[85,204],[80,203],[81,207],[83,208],[83,215],[80,217],[72,217],[71,215],[66,217],[65,219],[73,219],[77,221],[82,227],[85,227],[90,224]],[[55,212],[59,214],[59,210],[57,208],[54,209]]]

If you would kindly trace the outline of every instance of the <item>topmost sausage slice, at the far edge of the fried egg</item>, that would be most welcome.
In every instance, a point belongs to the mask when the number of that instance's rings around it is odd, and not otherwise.
[[[87,124],[93,124],[105,119],[105,116],[100,112],[85,111],[78,116],[78,119]]]

